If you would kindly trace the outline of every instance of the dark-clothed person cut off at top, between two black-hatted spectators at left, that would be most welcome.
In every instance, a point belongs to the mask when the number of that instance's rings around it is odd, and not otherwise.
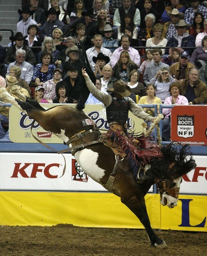
[[[44,9],[38,6],[40,1],[30,0],[30,10],[33,11],[31,18],[36,21],[38,27],[42,27],[46,22]]]

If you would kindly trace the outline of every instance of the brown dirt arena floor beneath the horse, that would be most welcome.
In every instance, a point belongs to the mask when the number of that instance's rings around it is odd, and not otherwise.
[[[160,231],[167,247],[150,246],[145,230],[0,226],[0,256],[206,256],[207,234]]]

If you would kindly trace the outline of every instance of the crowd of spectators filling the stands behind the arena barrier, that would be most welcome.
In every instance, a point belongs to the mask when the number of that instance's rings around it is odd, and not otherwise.
[[[12,44],[0,46],[8,92],[10,75],[39,103],[77,103],[88,66],[97,89],[123,80],[136,103],[207,104],[207,1],[22,0],[16,16]],[[90,94],[87,103],[100,102]],[[171,109],[164,115],[170,140]],[[7,138],[3,107],[0,120],[0,139]]]

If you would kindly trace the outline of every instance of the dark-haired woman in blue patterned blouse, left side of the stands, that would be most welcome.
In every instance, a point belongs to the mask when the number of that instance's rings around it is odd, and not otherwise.
[[[38,85],[44,84],[46,81],[53,78],[53,70],[56,68],[52,64],[53,57],[49,52],[42,52],[40,61],[34,68],[32,81]]]

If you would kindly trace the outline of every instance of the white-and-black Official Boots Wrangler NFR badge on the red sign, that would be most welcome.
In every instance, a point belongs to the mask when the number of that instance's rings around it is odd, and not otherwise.
[[[194,135],[194,116],[177,116],[178,137],[190,138]]]

